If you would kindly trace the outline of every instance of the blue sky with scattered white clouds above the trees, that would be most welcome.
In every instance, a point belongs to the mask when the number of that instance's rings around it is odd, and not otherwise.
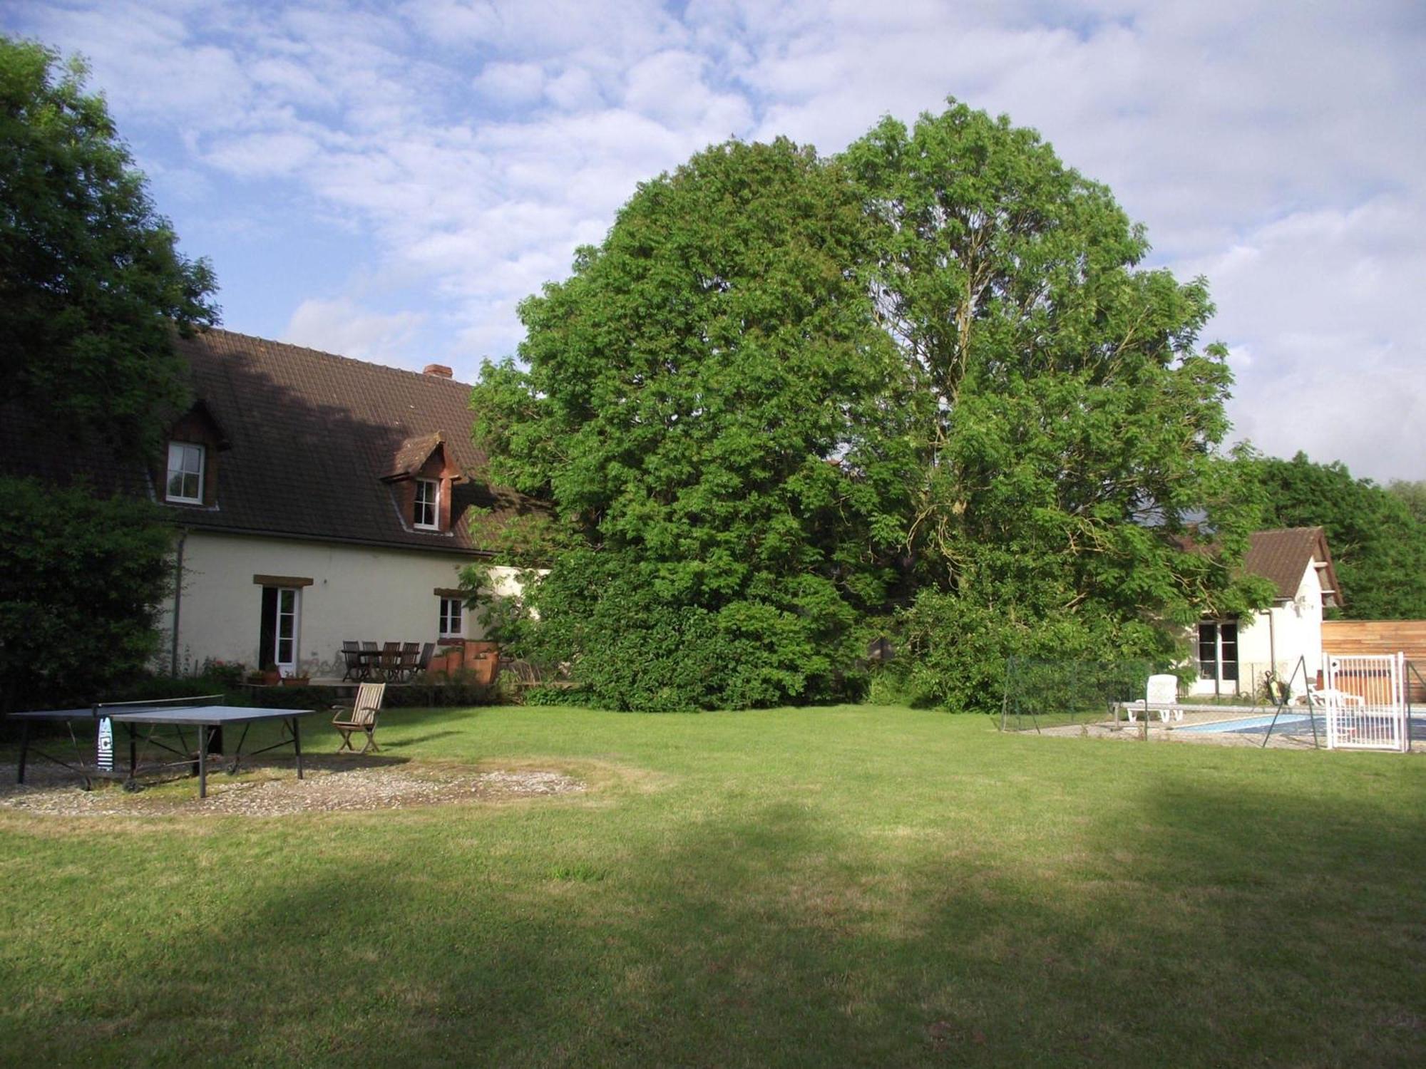
[[[954,95],[1205,275],[1233,439],[1426,479],[1420,0],[0,0],[81,53],[224,326],[471,382],[640,181]]]

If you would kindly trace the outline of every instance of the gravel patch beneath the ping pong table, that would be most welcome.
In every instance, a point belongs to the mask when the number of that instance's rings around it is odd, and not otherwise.
[[[185,778],[127,792],[118,783],[81,790],[58,770],[34,768],[30,783],[0,765],[0,810],[50,817],[160,817],[217,814],[281,817],[294,812],[362,812],[415,805],[545,798],[586,790],[582,780],[542,768],[473,770],[414,764],[308,764],[298,780],[291,767],[257,767],[231,778],[208,775],[208,797]]]

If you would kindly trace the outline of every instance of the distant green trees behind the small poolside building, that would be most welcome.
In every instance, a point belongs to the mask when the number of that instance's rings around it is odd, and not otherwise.
[[[1323,527],[1353,620],[1426,619],[1426,525],[1403,492],[1353,479],[1342,463],[1246,458],[1269,527]]]

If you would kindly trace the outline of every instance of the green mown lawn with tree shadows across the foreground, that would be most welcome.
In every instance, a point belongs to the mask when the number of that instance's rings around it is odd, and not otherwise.
[[[381,738],[590,790],[0,811],[0,1063],[1426,1063],[1422,757],[867,707]]]

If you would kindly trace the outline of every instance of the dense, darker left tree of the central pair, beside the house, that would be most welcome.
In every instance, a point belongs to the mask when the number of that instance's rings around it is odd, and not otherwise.
[[[485,368],[476,438],[578,536],[525,653],[625,708],[844,693],[906,482],[867,234],[836,165],[730,143],[643,184],[522,305],[529,371]]]

